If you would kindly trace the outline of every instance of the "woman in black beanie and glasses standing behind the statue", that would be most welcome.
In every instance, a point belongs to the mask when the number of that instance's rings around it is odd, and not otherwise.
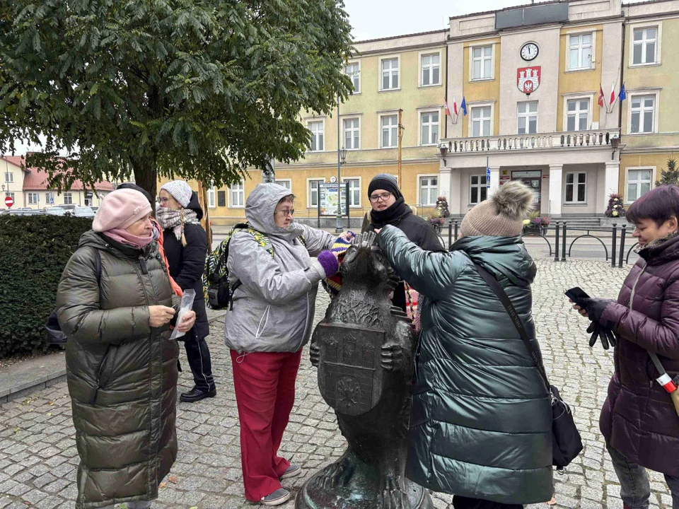
[[[379,230],[392,225],[405,233],[405,236],[426,251],[445,251],[439,235],[423,218],[412,213],[398,188],[396,177],[379,173],[368,185],[368,199],[372,210],[366,214],[361,231]],[[403,282],[394,290],[392,303],[403,311],[407,309],[406,289]]]

